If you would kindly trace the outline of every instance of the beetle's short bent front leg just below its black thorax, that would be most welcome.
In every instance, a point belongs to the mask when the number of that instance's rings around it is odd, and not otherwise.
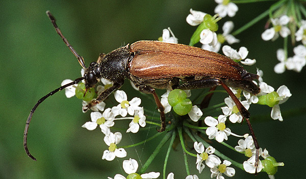
[[[106,99],[113,91],[120,88],[123,85],[124,81],[114,82],[114,85],[109,87],[108,89],[102,91],[95,100],[90,101],[88,105],[86,105],[83,108],[83,111],[86,112],[88,109],[90,109],[93,106],[96,106],[97,104],[101,103]]]

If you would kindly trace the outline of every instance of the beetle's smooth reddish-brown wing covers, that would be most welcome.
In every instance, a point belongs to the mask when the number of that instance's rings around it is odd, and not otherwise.
[[[205,76],[241,80],[241,66],[231,59],[201,48],[158,41],[131,45],[135,54],[130,72],[144,79]],[[237,68],[238,67],[238,68]]]

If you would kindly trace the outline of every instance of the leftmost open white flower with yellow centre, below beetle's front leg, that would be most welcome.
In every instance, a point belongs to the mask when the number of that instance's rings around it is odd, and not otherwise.
[[[92,131],[96,129],[97,125],[100,126],[101,132],[105,135],[111,133],[110,127],[114,126],[114,116],[111,113],[111,109],[106,109],[103,114],[99,112],[90,113],[91,122],[86,122],[82,127],[85,127],[87,130]]]

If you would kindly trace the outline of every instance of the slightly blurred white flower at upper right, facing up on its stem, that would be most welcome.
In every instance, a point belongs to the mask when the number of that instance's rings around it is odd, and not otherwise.
[[[266,41],[272,39],[272,41],[274,41],[278,38],[279,35],[281,35],[283,38],[287,37],[290,35],[290,30],[286,27],[289,21],[290,17],[287,15],[283,15],[279,19],[271,19],[273,27],[265,30],[265,32],[262,33],[262,39]]]

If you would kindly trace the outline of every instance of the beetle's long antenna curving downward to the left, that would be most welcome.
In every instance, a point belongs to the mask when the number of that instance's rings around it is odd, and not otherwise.
[[[49,96],[52,96],[53,94],[55,94],[56,92],[58,91],[61,91],[65,88],[67,88],[68,86],[71,86],[71,85],[75,85],[75,84],[78,84],[79,82],[81,82],[82,80],[84,80],[84,77],[81,77],[81,78],[78,78],[78,79],[75,79],[73,82],[71,83],[68,83],[66,85],[63,85],[51,92],[49,92],[47,95],[43,96],[42,98],[40,98],[36,105],[33,107],[33,109],[31,110],[30,112],[30,115],[28,117],[28,120],[27,120],[27,123],[25,123],[25,128],[24,128],[24,133],[23,133],[23,147],[24,147],[24,150],[25,150],[25,153],[27,153],[27,155],[33,159],[34,161],[36,161],[35,157],[33,157],[31,154],[30,154],[30,151],[28,149],[28,145],[27,145],[27,138],[28,138],[28,131],[29,131],[29,125],[30,125],[30,122],[31,122],[31,119],[32,119],[32,116],[33,116],[33,113],[34,111],[36,110],[36,108],[38,107],[39,104],[42,103],[42,101],[44,101],[47,97]]]

